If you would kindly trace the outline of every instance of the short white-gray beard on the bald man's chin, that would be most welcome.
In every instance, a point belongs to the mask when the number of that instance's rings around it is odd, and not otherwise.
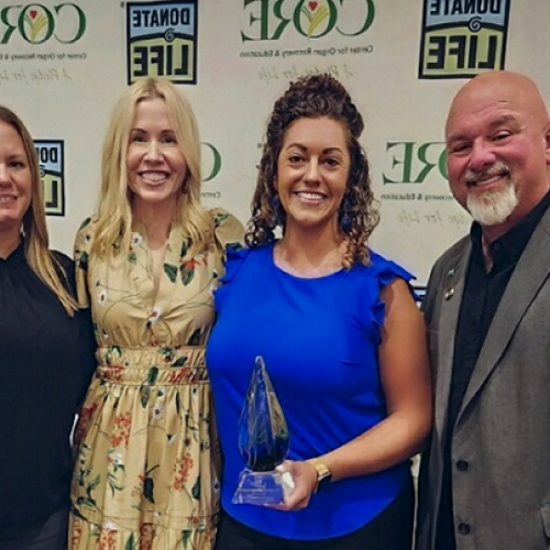
[[[469,194],[466,209],[481,226],[504,223],[518,205],[516,187],[509,182],[504,189]]]

